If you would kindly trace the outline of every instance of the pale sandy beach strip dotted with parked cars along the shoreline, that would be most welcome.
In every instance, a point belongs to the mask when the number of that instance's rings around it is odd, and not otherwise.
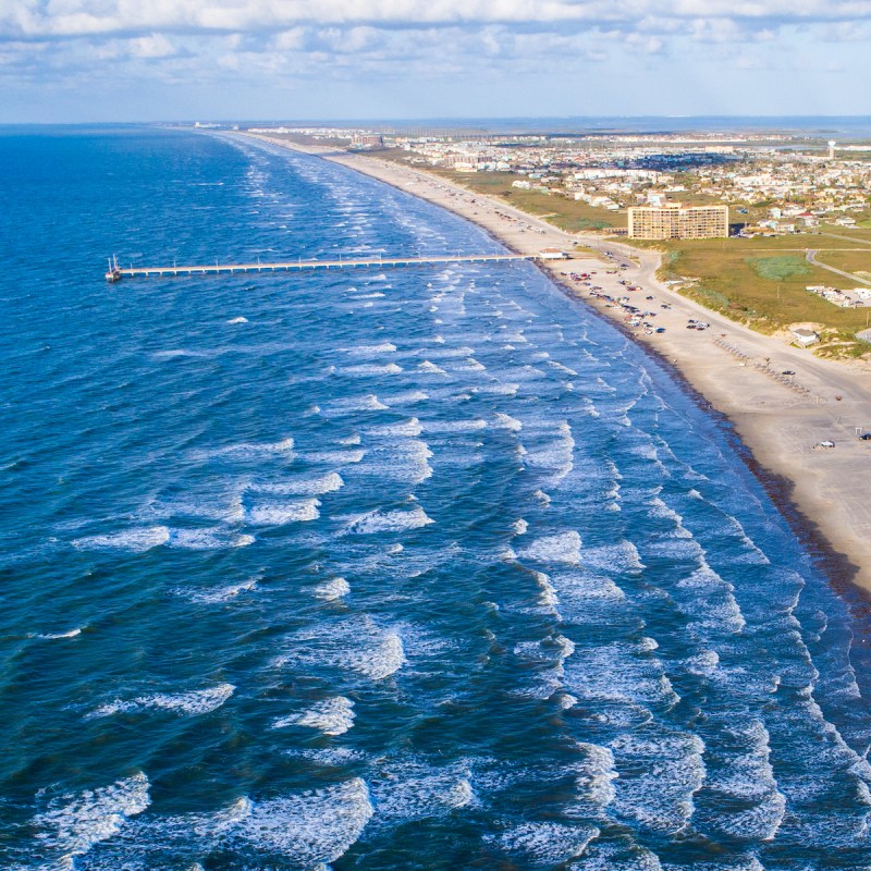
[[[619,322],[637,341],[672,364],[710,405],[733,421],[749,449],[755,470],[780,498],[788,498],[805,530],[818,528],[845,559],[835,563],[836,581],[871,590],[871,506],[863,484],[871,463],[871,383],[861,364],[835,363],[765,336],[680,296],[657,279],[660,255],[601,236],[569,234],[499,200],[469,192],[426,172],[363,154],[304,147],[258,136],[275,145],[318,155],[379,179],[473,221],[522,254],[545,247],[594,249],[571,260],[537,261],[568,294]],[[611,274],[615,266],[627,269]],[[590,287],[568,273],[594,272]],[[627,292],[621,281],[642,290]],[[626,312],[604,297],[630,297],[652,312],[643,318],[665,332],[646,334],[626,323]],[[652,299],[649,297],[653,297]],[[664,306],[668,306],[664,308]],[[690,319],[709,324],[687,329]],[[795,372],[795,375],[784,375]],[[821,441],[834,449],[815,449]],[[830,573],[831,573],[830,567]]]

